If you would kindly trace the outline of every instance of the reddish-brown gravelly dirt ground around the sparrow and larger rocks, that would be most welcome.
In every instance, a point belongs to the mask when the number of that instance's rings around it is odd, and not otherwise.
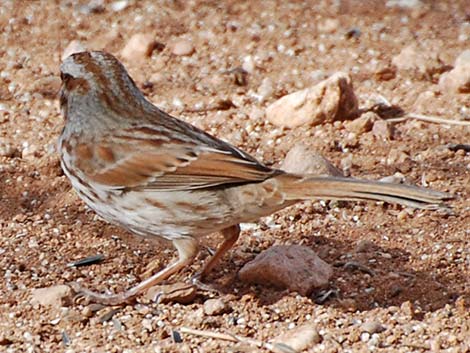
[[[276,99],[344,71],[361,106],[386,99],[406,112],[470,121],[469,94],[438,84],[469,49],[468,1],[407,8],[373,0],[5,0],[0,28],[0,351],[263,351],[181,327],[270,342],[304,324],[317,330],[311,352],[469,351],[470,153],[448,146],[470,143],[470,127],[405,119],[393,123],[392,138],[381,139],[371,131],[351,134],[344,122],[282,129],[264,116]],[[279,166],[302,142],[355,177],[399,172],[409,183],[453,193],[453,213],[304,202],[246,227],[207,281],[221,294],[200,291],[189,304],[139,300],[114,315],[81,303],[35,304],[33,289],[70,281],[123,290],[151,260],[163,267],[174,255],[168,244],[98,219],[71,190],[55,151],[64,49],[79,40],[122,59],[139,32],[159,45],[148,59],[124,64],[169,113],[268,165]],[[191,41],[194,53],[174,55],[179,38]],[[392,59],[410,44],[424,62],[396,70]],[[237,83],[231,70],[241,66],[249,70]],[[205,245],[214,248],[218,237]],[[274,244],[303,244],[330,264],[356,261],[372,271],[335,266],[333,295],[321,303],[318,293],[302,297],[241,282],[243,264]],[[67,267],[96,254],[105,260]],[[203,251],[171,281],[187,280],[207,257]],[[225,312],[207,314],[209,298],[223,299]]]

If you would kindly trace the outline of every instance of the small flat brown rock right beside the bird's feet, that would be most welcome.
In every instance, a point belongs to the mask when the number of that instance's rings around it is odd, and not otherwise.
[[[196,286],[188,283],[173,283],[168,285],[157,285],[151,287],[144,298],[150,302],[159,303],[192,303],[196,297]]]

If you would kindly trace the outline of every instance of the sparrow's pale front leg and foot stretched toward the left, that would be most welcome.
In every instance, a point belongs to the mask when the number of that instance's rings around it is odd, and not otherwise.
[[[84,297],[94,303],[104,305],[119,305],[127,303],[140,293],[190,265],[194,261],[199,250],[198,241],[192,237],[175,239],[173,240],[173,245],[176,250],[178,250],[178,260],[125,292],[118,294],[102,294],[83,288],[78,283],[71,283],[70,285],[78,296]]]

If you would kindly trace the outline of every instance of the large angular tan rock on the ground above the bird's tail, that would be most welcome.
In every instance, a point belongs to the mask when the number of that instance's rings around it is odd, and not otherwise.
[[[351,77],[338,72],[319,84],[284,96],[266,108],[276,126],[294,128],[344,120],[357,114]]]

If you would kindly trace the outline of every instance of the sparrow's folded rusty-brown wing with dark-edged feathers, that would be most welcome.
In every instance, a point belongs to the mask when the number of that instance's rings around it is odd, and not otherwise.
[[[191,190],[263,181],[280,173],[220,140],[207,146],[157,136],[126,135],[112,144],[87,145],[77,163],[91,181],[117,189]]]

